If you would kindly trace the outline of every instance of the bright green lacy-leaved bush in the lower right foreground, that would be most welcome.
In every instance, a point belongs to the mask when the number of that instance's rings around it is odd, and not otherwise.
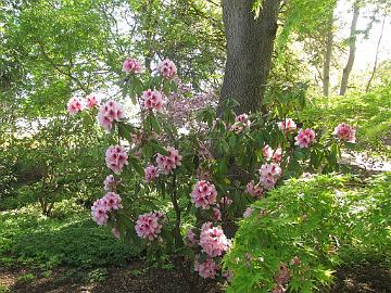
[[[313,292],[332,281],[340,251],[376,247],[390,259],[390,178],[364,189],[352,189],[348,177],[291,179],[254,203],[225,257],[235,275],[227,292],[269,292],[281,263],[289,266],[289,292]],[[291,263],[295,256],[299,264]]]

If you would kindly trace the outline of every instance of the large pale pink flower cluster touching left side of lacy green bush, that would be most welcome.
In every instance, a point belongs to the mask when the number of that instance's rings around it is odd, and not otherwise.
[[[200,246],[210,257],[216,257],[228,250],[229,243],[219,227],[212,227],[206,222],[201,228]]]

